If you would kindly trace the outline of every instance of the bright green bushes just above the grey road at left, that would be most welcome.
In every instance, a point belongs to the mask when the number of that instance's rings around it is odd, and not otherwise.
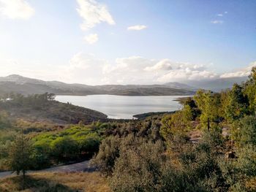
[[[70,126],[63,131],[39,134],[34,137],[34,168],[42,169],[42,164],[58,164],[89,158],[99,149],[105,123],[90,126]]]

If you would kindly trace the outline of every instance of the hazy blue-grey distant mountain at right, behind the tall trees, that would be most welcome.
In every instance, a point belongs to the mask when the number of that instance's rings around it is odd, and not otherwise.
[[[222,91],[227,88],[231,88],[234,83],[241,84],[247,80],[248,77],[230,77],[230,78],[219,78],[214,80],[189,80],[184,81],[189,86],[202,88],[211,91]]]

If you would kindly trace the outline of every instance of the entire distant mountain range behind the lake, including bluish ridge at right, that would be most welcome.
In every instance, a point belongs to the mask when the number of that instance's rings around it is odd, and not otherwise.
[[[193,95],[198,88],[222,91],[231,88],[237,82],[244,82],[247,77],[219,78],[214,80],[187,80],[167,82],[162,85],[83,85],[67,84],[59,81],[43,81],[12,74],[0,77],[0,94],[55,93],[59,95],[94,95],[110,94],[121,96],[178,96]]]

